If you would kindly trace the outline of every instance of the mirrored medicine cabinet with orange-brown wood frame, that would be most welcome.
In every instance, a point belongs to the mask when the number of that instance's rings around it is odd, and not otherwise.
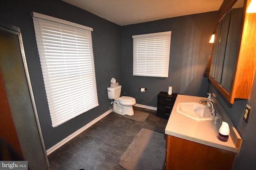
[[[248,99],[256,60],[256,14],[246,13],[250,0],[236,0],[215,29],[209,80],[233,104]]]

